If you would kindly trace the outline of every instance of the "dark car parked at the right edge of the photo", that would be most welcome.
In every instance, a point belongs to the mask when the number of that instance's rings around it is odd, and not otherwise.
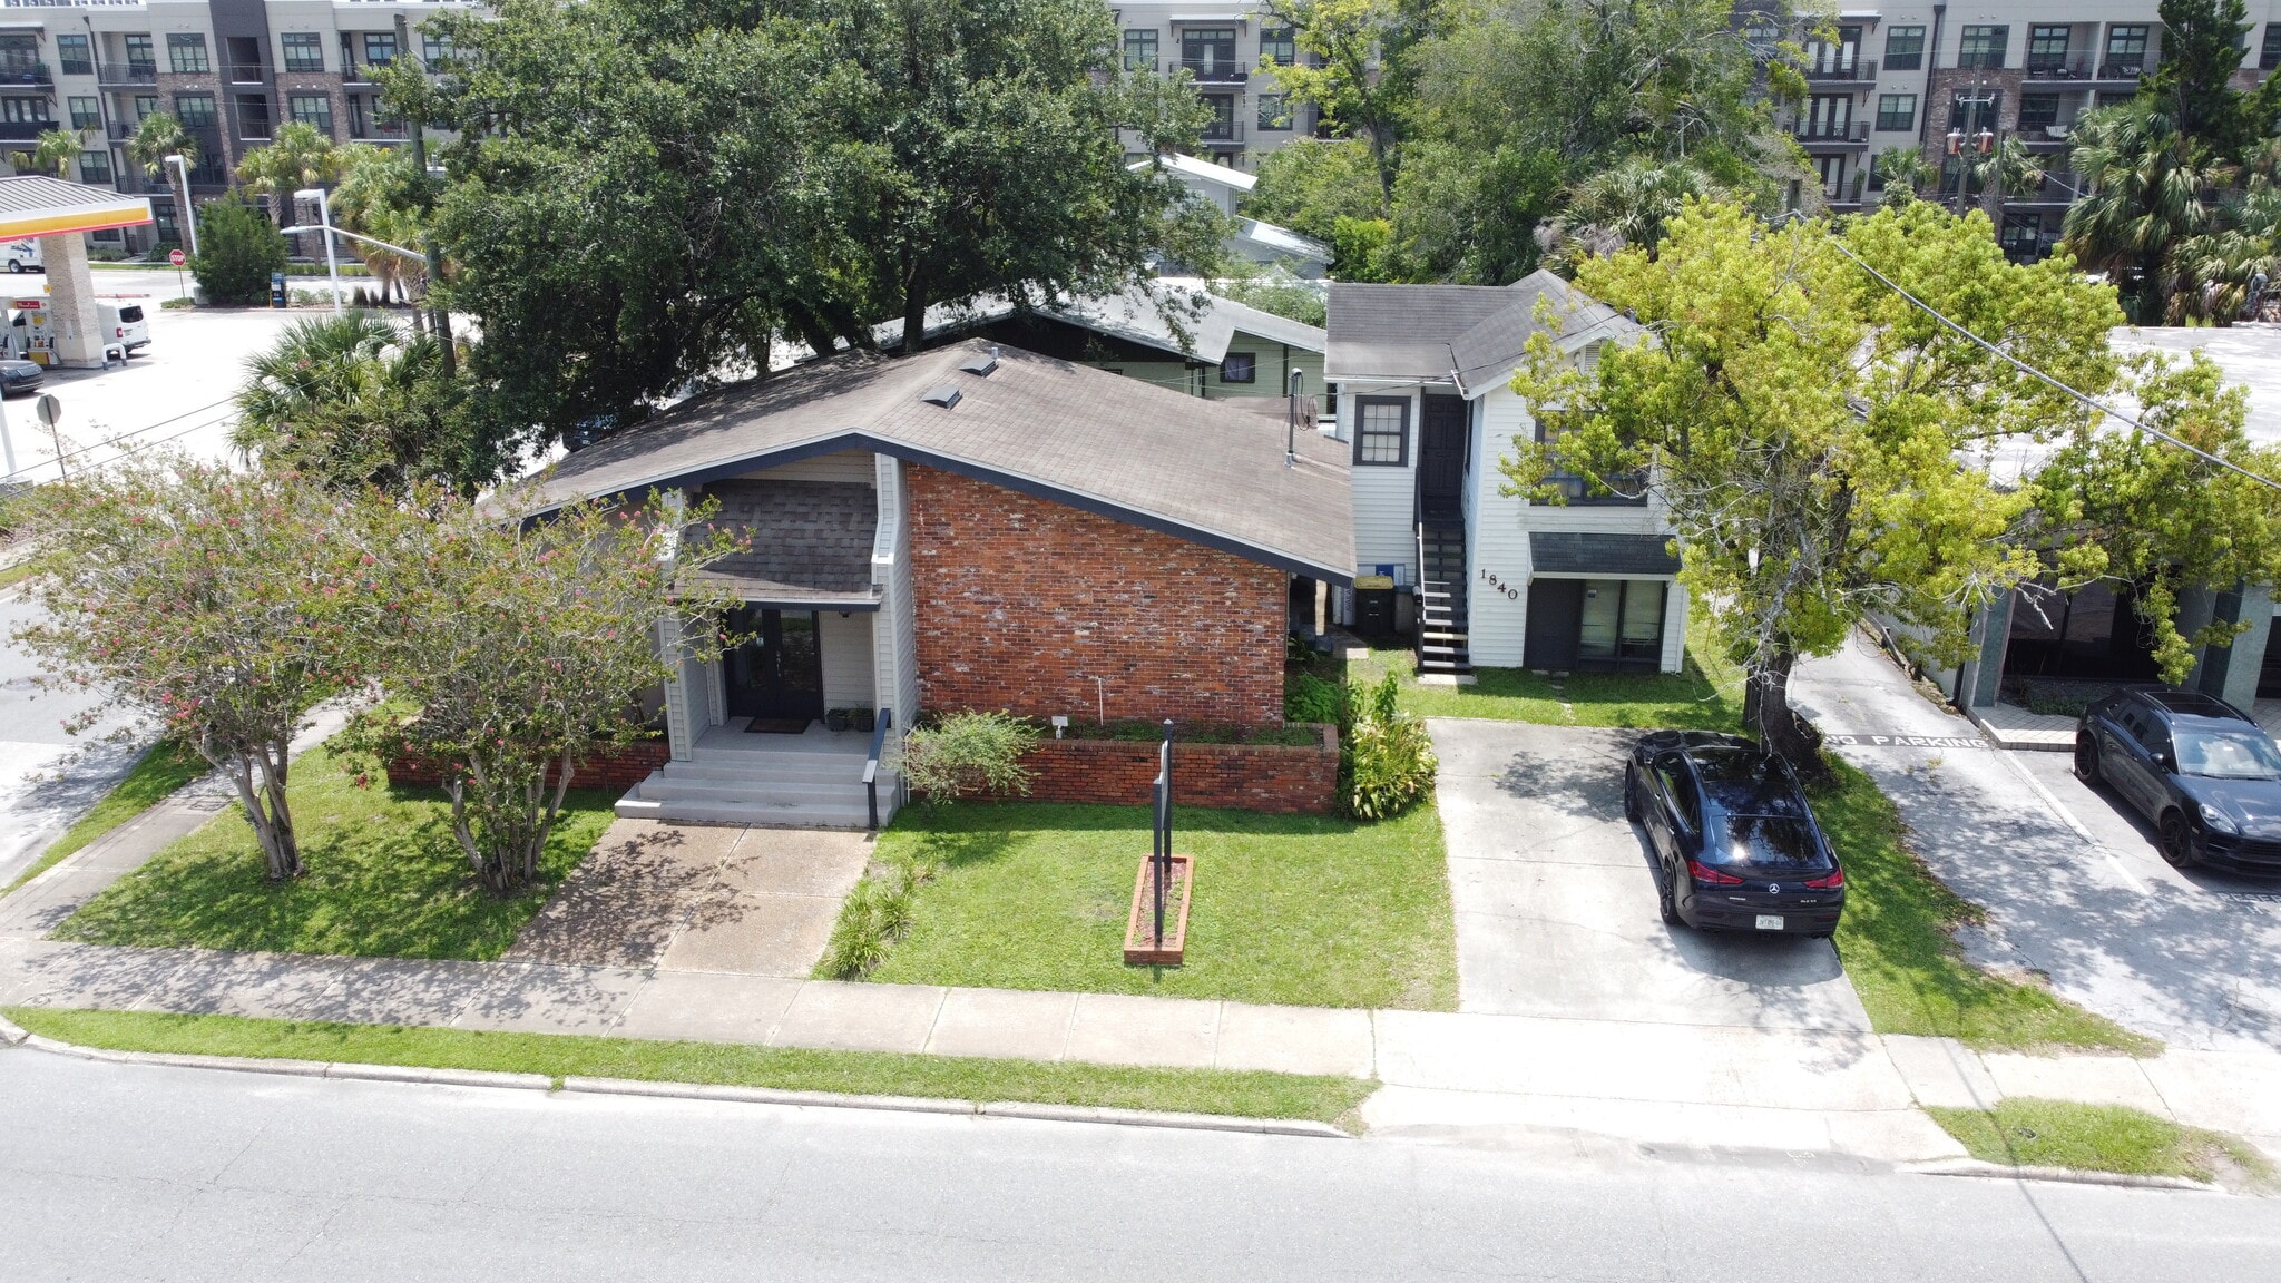
[[[2176,868],[2281,877],[2281,747],[2247,712],[2187,689],[2128,689],[2083,710],[2076,776],[2153,822]]]

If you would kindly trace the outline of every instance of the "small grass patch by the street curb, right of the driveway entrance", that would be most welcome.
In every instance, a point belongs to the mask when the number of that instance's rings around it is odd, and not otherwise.
[[[2272,1164],[2249,1141],[2185,1128],[2124,1105],[2014,1096],[1994,1109],[1927,1109],[1980,1162],[2071,1167],[2124,1176],[2270,1183]]]

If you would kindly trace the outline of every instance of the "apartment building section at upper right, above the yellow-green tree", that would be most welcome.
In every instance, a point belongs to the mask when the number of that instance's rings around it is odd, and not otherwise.
[[[2249,0],[2240,87],[2281,66],[2281,0]],[[2005,199],[1998,237],[2014,258],[2060,240],[2080,180],[2067,169],[2076,116],[2137,94],[2162,62],[2156,0],[2010,0],[2003,5],[1845,7],[1836,41],[1809,41],[1807,82],[1788,128],[1836,210],[1875,203],[1875,158],[1921,146],[1941,164],[1941,194],[1959,201],[1964,164],[1948,135],[2021,139],[2046,171],[2041,189]]]

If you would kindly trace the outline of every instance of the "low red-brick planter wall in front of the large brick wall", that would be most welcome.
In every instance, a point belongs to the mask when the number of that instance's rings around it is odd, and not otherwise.
[[[1184,744],[1172,740],[1172,804],[1330,815],[1339,804],[1339,728],[1314,726],[1321,742]],[[1036,772],[1031,801],[1147,806],[1156,781],[1150,740],[1040,740],[1022,758]]]

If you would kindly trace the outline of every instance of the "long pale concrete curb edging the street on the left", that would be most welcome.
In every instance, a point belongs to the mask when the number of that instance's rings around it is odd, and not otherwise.
[[[322,1059],[262,1059],[235,1055],[119,1052],[82,1048],[25,1032],[0,1018],[0,1046],[27,1046],[73,1059],[107,1064],[157,1064],[169,1068],[224,1068],[237,1073],[278,1073],[287,1078],[338,1078],[363,1082],[424,1082],[436,1087],[504,1087],[516,1091],[557,1091],[543,1073],[500,1073],[484,1068],[422,1068],[408,1064],[338,1064]],[[1168,1114],[1154,1109],[1106,1109],[1093,1105],[1033,1105],[1022,1100],[958,1100],[937,1096],[846,1096],[839,1091],[785,1091],[773,1087],[725,1087],[707,1082],[646,1082],[639,1078],[563,1078],[561,1091],[579,1096],[655,1096],[673,1100],[725,1100],[739,1105],[796,1105],[817,1109],[880,1109],[894,1114],[967,1114],[990,1119],[1033,1119],[1049,1123],[1111,1123],[1125,1128],[1170,1128],[1188,1132],[1252,1132],[1271,1137],[1353,1139],[1330,1123],[1289,1119],[1239,1119],[1227,1114]]]

